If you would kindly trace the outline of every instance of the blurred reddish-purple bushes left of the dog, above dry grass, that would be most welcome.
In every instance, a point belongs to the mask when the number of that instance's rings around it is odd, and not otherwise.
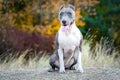
[[[18,30],[15,27],[4,27],[0,32],[0,51],[5,52],[8,49],[12,51],[24,51],[31,49],[31,51],[53,51],[54,37],[44,37],[38,33],[27,33]]]

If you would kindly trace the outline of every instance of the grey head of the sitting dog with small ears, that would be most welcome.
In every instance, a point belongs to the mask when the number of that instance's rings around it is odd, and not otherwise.
[[[62,5],[59,9],[59,20],[63,27],[69,27],[75,21],[75,8],[69,5],[67,8]]]

